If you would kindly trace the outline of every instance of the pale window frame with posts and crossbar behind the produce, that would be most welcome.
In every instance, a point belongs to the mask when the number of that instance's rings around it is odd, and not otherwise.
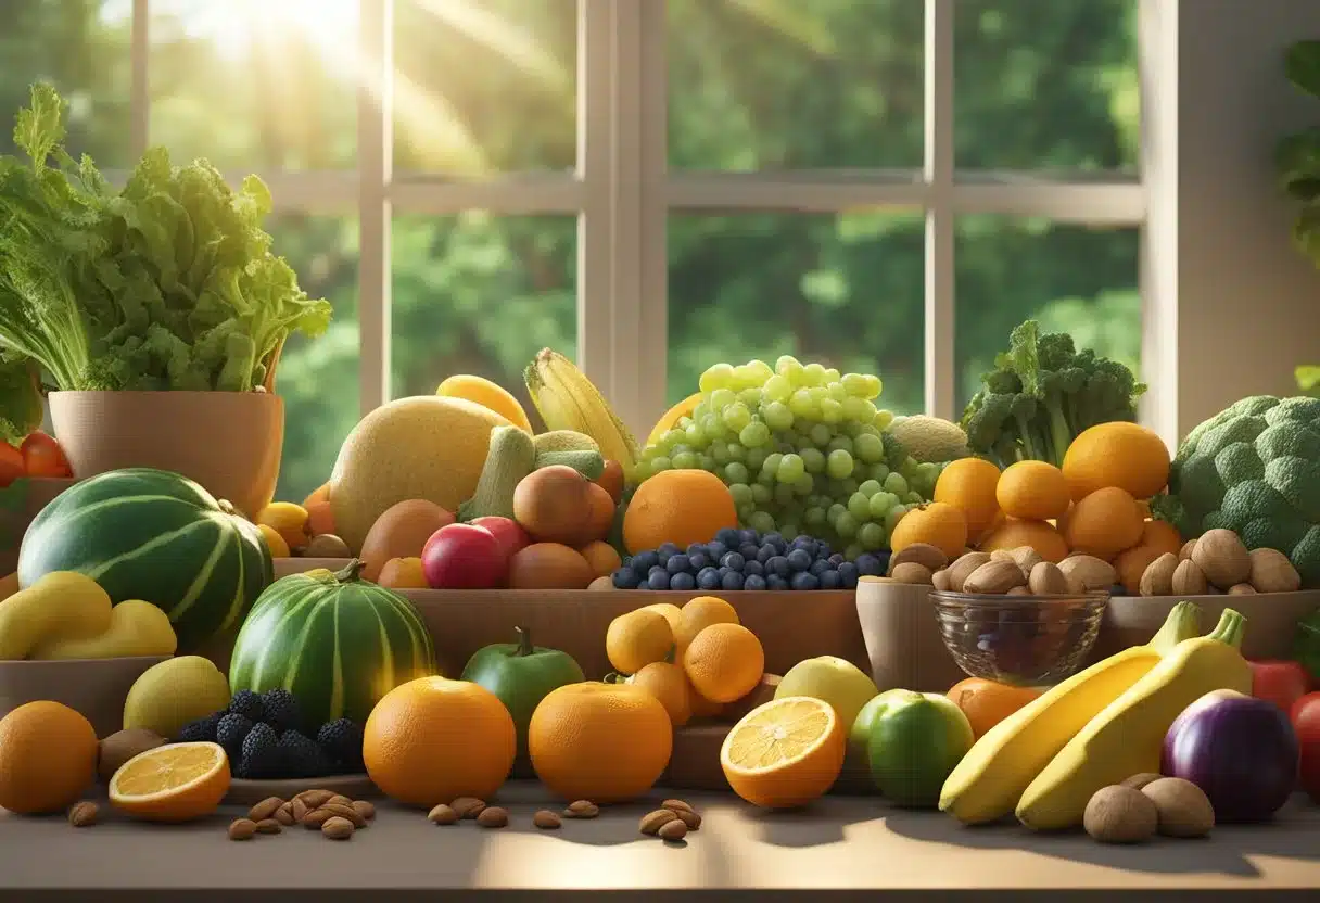
[[[953,166],[953,12],[925,3],[925,153],[920,170],[667,170],[664,0],[578,0],[574,173],[483,181],[395,173],[393,0],[358,0],[367,78],[358,88],[358,168],[261,173],[279,213],[350,213],[360,220],[362,412],[389,387],[389,235],[393,211],[578,217],[578,362],[620,417],[645,433],[665,408],[667,220],[671,213],[921,211],[925,240],[925,409],[956,417],[954,230],[962,214],[1043,217],[1142,230],[1143,418],[1177,437],[1176,20],[1179,0],[1139,0],[1143,153],[1137,176],[1061,178]],[[132,139],[149,143],[149,0],[133,0]],[[1154,190],[1152,190],[1154,185]],[[1163,189],[1163,190],[1162,190]]]

